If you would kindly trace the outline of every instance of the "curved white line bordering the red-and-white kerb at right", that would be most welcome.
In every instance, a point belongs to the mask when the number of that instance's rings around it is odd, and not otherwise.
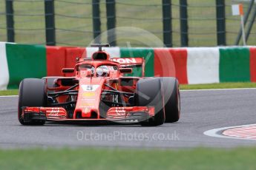
[[[203,132],[203,134],[207,135],[207,136],[210,136],[210,137],[221,137],[221,138],[240,139],[240,140],[256,140],[256,139],[241,138],[241,137],[230,137],[230,136],[225,136],[225,135],[218,134],[218,132],[220,132],[220,131],[224,131],[224,130],[227,130],[227,129],[233,129],[233,128],[239,128],[239,127],[245,127],[245,126],[256,126],[256,124],[241,125],[241,126],[229,126],[229,127],[211,129],[211,130],[208,130],[206,132]]]

